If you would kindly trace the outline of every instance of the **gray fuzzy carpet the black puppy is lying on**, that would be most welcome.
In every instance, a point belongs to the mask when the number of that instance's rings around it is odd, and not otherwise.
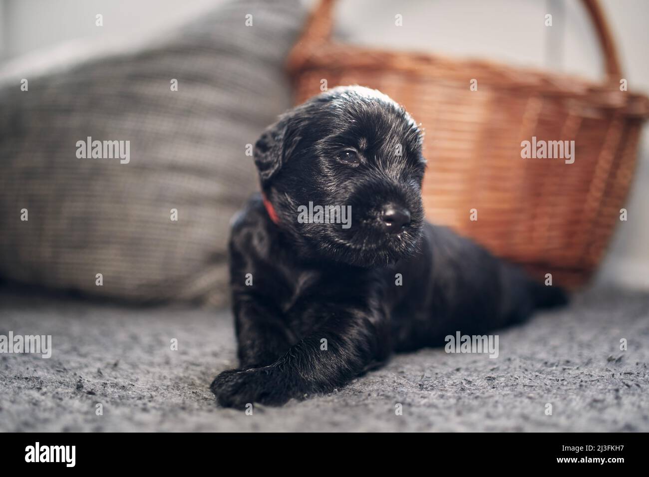
[[[649,295],[637,293],[593,290],[540,313],[498,333],[496,359],[402,354],[335,393],[252,415],[217,408],[208,389],[236,364],[229,312],[3,291],[9,330],[51,334],[53,355],[0,354],[0,431],[649,431]]]

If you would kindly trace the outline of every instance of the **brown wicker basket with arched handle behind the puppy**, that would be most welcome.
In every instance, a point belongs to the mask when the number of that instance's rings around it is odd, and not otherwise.
[[[646,97],[620,91],[615,47],[598,4],[583,0],[606,58],[602,84],[564,75],[398,53],[332,41],[334,1],[313,12],[289,55],[301,103],[361,84],[403,104],[426,130],[423,197],[451,226],[534,275],[574,287],[594,271],[620,218]],[[478,91],[471,91],[471,79]],[[521,141],[574,140],[575,162],[523,159]],[[478,220],[471,220],[471,210]],[[475,218],[475,215],[474,217]]]

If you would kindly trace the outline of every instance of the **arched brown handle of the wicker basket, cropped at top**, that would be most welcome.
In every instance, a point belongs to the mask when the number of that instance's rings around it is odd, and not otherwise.
[[[600,48],[604,53],[607,77],[609,80],[617,82],[622,77],[620,60],[615,42],[613,42],[611,29],[606,18],[604,18],[602,7],[597,0],[581,1],[597,32]],[[334,3],[336,3],[336,0],[320,0],[308,19],[306,27],[304,27],[299,43],[293,51],[294,55],[291,55],[293,58],[304,57],[300,53],[307,53],[308,50],[317,47],[317,45],[330,42],[334,28]]]

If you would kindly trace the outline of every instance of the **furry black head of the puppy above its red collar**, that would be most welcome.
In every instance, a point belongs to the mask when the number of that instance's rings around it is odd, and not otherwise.
[[[267,128],[254,160],[278,225],[300,256],[370,267],[417,248],[421,143],[415,121],[389,97],[339,87]],[[330,212],[325,223],[317,206]]]

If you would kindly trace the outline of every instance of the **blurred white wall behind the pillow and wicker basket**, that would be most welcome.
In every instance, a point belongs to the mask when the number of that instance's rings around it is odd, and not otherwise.
[[[223,0],[0,0],[0,59],[77,40],[92,49],[196,16]],[[303,0],[311,4],[313,0]],[[629,88],[649,93],[649,1],[600,0],[615,33]],[[591,79],[602,74],[594,31],[578,0],[343,0],[337,27],[351,42],[491,58]],[[95,27],[95,14],[104,26]],[[395,14],[404,26],[395,28]],[[553,27],[543,25],[546,13]],[[72,51],[72,49],[69,49]],[[66,47],[60,51],[67,51]],[[598,276],[649,289],[649,128],[626,208]]]

